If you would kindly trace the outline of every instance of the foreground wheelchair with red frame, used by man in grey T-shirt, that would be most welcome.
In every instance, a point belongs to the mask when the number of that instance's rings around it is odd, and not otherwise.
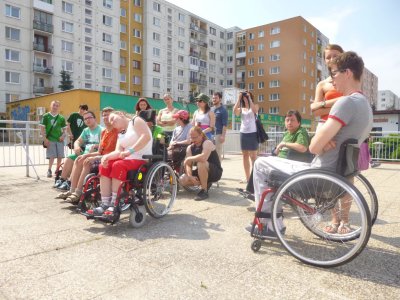
[[[254,252],[260,250],[262,240],[278,239],[296,259],[324,268],[343,265],[362,252],[371,235],[372,221],[363,194],[349,180],[359,175],[354,168],[358,161],[356,143],[348,140],[342,144],[336,172],[311,169],[293,175],[279,170],[269,173],[269,188],[261,195],[251,229]],[[265,213],[262,207],[269,193],[274,194],[272,208],[271,213]],[[347,214],[349,232],[324,230],[333,213]],[[265,226],[260,218],[271,219],[276,238],[259,234]]]

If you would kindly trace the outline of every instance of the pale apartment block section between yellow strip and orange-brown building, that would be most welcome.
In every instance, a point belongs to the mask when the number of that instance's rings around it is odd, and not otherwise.
[[[233,44],[238,29],[225,29],[164,0],[143,4],[144,96],[160,98],[168,92],[187,102],[199,93],[234,85]]]

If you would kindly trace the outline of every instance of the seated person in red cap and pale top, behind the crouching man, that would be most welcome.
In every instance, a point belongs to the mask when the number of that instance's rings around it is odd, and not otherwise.
[[[190,129],[193,127],[186,110],[179,110],[173,115],[176,119],[176,127],[172,132],[172,138],[168,147],[168,157],[174,163],[180,163],[185,159],[186,148],[190,144]]]

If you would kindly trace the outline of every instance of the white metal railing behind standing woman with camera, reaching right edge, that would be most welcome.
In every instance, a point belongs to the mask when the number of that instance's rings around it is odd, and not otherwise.
[[[259,146],[260,154],[270,154],[282,141],[284,132],[267,132],[268,141]],[[310,136],[313,133],[310,132]],[[400,132],[383,131],[371,132],[369,138],[369,152],[372,160],[400,162]],[[229,131],[224,143],[224,153],[241,153],[239,131]]]

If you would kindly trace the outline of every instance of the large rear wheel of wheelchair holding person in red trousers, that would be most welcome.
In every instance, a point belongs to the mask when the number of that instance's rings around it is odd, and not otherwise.
[[[154,218],[168,214],[174,204],[177,192],[174,170],[165,162],[152,165],[144,181],[144,204]]]

